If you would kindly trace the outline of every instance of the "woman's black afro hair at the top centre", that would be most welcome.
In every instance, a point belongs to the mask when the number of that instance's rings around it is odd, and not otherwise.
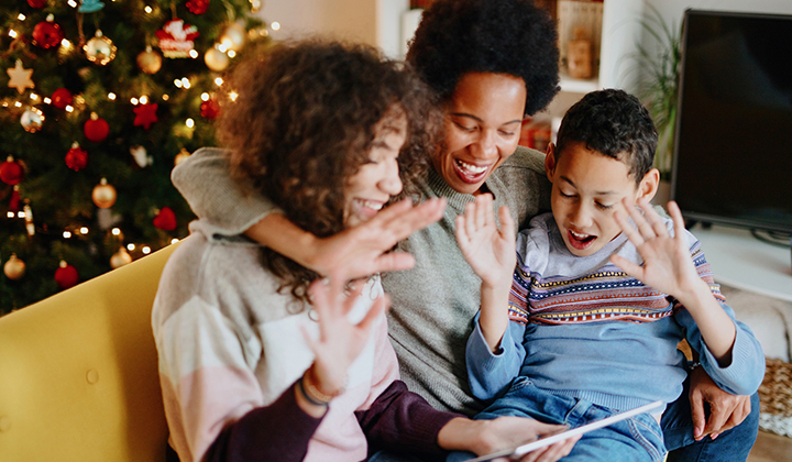
[[[507,74],[525,81],[525,114],[559,91],[556,24],[531,0],[438,0],[425,12],[407,62],[448,101],[469,73]]]

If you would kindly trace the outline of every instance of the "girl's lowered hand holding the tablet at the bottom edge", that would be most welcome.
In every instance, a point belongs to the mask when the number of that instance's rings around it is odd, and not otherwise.
[[[459,417],[450,420],[438,435],[443,449],[471,451],[477,455],[492,454],[516,448],[540,437],[556,435],[568,428],[563,425],[542,424],[525,418],[504,416],[493,420],[470,420]],[[531,451],[521,462],[552,462],[570,453],[580,436]]]

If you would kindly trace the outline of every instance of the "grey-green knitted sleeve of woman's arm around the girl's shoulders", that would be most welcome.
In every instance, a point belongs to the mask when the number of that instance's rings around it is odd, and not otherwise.
[[[245,194],[231,178],[223,151],[201,147],[173,169],[170,180],[199,218],[210,238],[242,234],[262,218],[279,210],[265,197]]]

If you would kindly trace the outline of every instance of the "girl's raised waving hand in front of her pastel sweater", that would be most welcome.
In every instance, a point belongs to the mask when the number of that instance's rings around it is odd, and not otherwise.
[[[354,284],[351,293],[344,295],[344,283],[342,277],[333,276],[329,280],[319,279],[310,285],[311,301],[319,316],[319,338],[311,339],[302,328],[305,341],[316,356],[311,365],[311,378],[316,381],[314,385],[329,396],[343,392],[346,370],[363,351],[372,324],[388,306],[387,296],[380,297],[362,321],[351,323],[348,315],[361,294],[362,284]]]

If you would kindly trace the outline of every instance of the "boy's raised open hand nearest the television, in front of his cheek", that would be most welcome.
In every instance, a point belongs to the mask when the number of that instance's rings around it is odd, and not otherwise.
[[[614,212],[614,219],[638,250],[644,265],[637,265],[620,255],[612,255],[610,262],[644,284],[672,295],[683,304],[685,298],[701,292],[701,285],[705,283],[693,265],[685,240],[684,220],[676,202],[668,205],[674,222],[673,237],[647,200],[640,199],[638,202],[644,215],[628,199],[624,199],[624,206],[636,226],[630,226],[620,210]]]

